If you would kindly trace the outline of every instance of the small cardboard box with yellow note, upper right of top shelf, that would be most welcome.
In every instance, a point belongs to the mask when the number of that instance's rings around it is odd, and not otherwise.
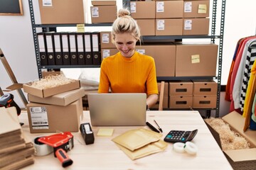
[[[209,17],[209,0],[188,1],[184,0],[183,18]]]

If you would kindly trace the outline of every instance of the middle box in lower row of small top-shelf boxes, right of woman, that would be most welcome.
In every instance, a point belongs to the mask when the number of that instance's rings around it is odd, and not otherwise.
[[[183,19],[156,19],[156,35],[182,35]]]

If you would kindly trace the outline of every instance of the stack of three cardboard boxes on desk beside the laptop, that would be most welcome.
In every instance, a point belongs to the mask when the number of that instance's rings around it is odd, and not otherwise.
[[[31,133],[78,132],[82,117],[82,96],[80,81],[41,89],[23,84],[28,93],[28,123]]]

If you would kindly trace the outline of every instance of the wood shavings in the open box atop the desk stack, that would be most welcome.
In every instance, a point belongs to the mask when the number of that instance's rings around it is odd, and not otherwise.
[[[50,74],[43,79],[31,82],[30,85],[37,89],[50,89],[73,82],[75,82],[75,79],[68,79],[63,74]]]

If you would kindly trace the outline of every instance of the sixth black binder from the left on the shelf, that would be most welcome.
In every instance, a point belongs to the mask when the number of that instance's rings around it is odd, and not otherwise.
[[[78,45],[78,65],[85,65],[84,33],[76,33],[76,40]]]

